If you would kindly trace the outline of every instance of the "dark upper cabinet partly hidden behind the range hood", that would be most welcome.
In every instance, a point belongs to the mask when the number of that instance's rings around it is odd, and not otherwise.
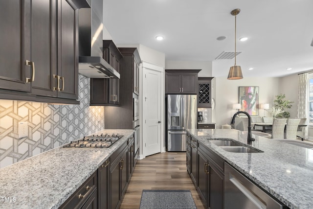
[[[103,40],[103,59],[118,72],[122,57],[112,40]],[[115,78],[90,78],[90,105],[118,106],[119,82]]]

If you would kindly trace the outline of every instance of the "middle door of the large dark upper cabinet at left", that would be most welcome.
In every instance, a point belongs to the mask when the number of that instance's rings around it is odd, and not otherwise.
[[[57,96],[57,0],[32,0],[31,56],[35,65],[32,93]]]

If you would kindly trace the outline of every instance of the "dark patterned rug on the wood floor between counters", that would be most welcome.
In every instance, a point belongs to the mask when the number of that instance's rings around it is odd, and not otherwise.
[[[140,209],[197,209],[190,190],[142,190]]]

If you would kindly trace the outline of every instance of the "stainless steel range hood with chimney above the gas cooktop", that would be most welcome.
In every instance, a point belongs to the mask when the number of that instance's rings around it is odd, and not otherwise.
[[[87,0],[90,8],[79,9],[79,73],[89,78],[120,78],[103,59],[103,0]]]

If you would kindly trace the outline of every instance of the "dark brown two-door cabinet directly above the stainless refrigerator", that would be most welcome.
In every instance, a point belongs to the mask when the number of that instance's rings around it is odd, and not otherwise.
[[[197,94],[200,70],[165,70],[165,93]]]

